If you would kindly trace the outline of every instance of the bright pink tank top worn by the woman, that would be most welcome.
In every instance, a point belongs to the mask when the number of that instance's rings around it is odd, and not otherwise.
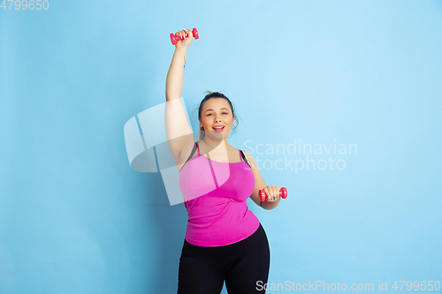
[[[252,235],[258,218],[248,210],[255,188],[248,163],[215,162],[200,154],[179,172],[179,190],[187,209],[188,243],[198,246],[230,245]]]

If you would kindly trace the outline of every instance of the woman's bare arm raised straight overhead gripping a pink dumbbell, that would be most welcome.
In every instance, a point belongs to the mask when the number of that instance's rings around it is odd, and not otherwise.
[[[166,104],[165,104],[165,129],[166,137],[171,154],[177,165],[183,150],[194,145],[194,132],[187,123],[186,111],[181,103],[181,91],[183,89],[184,65],[186,64],[187,49],[192,42],[192,31],[179,31],[175,35],[189,34],[183,41],[177,41],[175,53],[171,59],[171,66],[166,79]]]

